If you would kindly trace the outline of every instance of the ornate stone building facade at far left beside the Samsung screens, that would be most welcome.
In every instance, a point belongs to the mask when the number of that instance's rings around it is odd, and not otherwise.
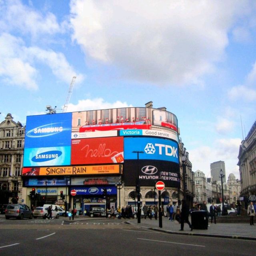
[[[24,137],[25,127],[7,114],[0,123],[0,204],[22,201]]]

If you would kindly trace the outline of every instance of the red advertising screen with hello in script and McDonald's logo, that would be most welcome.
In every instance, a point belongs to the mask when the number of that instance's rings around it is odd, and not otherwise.
[[[71,164],[111,164],[124,162],[123,137],[72,140]]]

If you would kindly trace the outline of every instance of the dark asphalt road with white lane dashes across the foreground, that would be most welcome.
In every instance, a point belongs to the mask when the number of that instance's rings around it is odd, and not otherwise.
[[[255,241],[166,234],[122,220],[0,219],[0,255],[253,255]]]

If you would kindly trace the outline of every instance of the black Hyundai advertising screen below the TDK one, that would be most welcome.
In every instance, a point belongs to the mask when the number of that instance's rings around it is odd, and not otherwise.
[[[162,179],[166,187],[178,188],[180,185],[180,166],[174,162],[154,160],[126,160],[124,162],[124,184],[135,186],[139,176],[141,186],[155,186]]]

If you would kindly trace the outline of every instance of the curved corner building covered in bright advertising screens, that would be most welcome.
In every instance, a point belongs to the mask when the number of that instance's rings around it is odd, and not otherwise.
[[[178,121],[166,108],[90,110],[27,116],[22,178],[27,204],[110,209],[132,205],[136,181],[141,205],[178,203]],[[36,197],[31,198],[32,188]],[[104,194],[106,191],[106,195]],[[60,198],[63,194],[65,198]],[[107,201],[107,202],[106,202]],[[136,210],[136,209],[134,209]]]

